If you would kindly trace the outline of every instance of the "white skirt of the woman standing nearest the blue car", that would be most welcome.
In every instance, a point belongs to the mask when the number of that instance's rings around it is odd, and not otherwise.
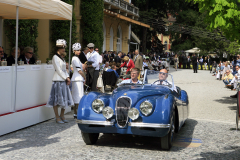
[[[72,82],[72,97],[74,104],[79,104],[84,96],[83,82]]]

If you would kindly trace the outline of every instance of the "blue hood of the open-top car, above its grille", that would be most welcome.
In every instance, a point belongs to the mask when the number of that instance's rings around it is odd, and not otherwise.
[[[133,105],[137,103],[141,98],[148,96],[162,96],[171,93],[171,90],[165,86],[155,85],[126,85],[115,89],[112,93],[112,98],[116,100],[121,96],[127,96],[132,99]]]

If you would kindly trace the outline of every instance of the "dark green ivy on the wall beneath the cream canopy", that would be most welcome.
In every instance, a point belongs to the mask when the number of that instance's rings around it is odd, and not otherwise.
[[[10,43],[10,47],[16,46],[16,20],[4,20],[5,34]],[[18,46],[33,47],[37,56],[38,46],[36,38],[38,37],[38,20],[19,20],[18,28]]]

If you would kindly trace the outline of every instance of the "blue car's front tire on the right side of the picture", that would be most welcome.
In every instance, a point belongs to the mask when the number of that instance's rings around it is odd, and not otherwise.
[[[168,134],[164,137],[161,137],[161,148],[163,150],[170,150],[173,143],[173,133],[175,129],[175,112],[173,112],[172,118],[171,118],[171,128],[168,132]]]

